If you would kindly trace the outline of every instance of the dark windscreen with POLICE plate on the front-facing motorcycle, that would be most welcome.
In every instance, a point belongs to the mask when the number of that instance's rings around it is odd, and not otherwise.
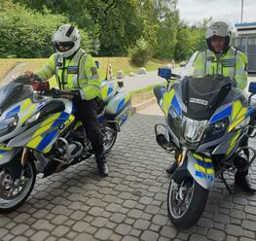
[[[182,100],[186,116],[193,120],[208,120],[232,89],[230,78],[185,78]]]

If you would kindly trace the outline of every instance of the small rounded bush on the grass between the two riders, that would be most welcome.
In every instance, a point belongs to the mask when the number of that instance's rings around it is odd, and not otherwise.
[[[137,66],[143,66],[152,55],[150,45],[143,38],[137,40],[136,46],[129,50],[131,62]]]

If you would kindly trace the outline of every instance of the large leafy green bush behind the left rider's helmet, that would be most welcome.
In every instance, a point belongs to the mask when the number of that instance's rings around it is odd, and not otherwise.
[[[49,57],[54,50],[53,33],[68,23],[67,17],[36,13],[16,5],[0,12],[0,57]],[[80,30],[82,47],[90,48],[88,34]]]

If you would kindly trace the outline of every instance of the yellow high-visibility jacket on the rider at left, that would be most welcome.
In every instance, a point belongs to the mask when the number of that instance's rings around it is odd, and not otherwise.
[[[60,89],[79,90],[82,99],[101,97],[101,82],[95,62],[91,55],[81,49],[70,58],[63,58],[57,52],[52,54],[36,74],[46,80],[55,75]]]

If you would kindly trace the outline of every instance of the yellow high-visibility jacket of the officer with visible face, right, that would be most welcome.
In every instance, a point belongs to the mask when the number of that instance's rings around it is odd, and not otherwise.
[[[233,47],[217,57],[214,52],[207,50],[199,53],[194,69],[195,77],[205,75],[222,75],[237,81],[238,88],[244,89],[247,85],[247,57]]]

